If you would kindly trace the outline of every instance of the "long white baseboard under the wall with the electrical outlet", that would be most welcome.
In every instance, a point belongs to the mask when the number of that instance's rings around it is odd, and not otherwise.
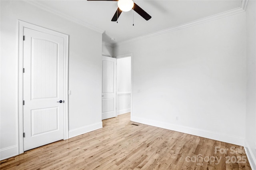
[[[209,139],[213,139],[213,140],[218,140],[218,141],[222,141],[222,142],[227,142],[227,143],[231,143],[231,144],[244,146],[244,138],[241,138],[239,136],[231,136],[231,135],[222,134],[222,133],[218,133],[218,132],[206,131],[206,130],[198,129],[198,128],[190,128],[190,127],[184,127],[184,126],[180,126],[180,125],[173,125],[173,124],[169,124],[169,123],[163,123],[163,122],[159,122],[159,121],[143,119],[143,118],[134,117],[134,116],[131,117],[131,121],[143,123],[143,124],[154,126],[154,127],[165,128],[165,129],[174,130],[177,132],[192,134],[195,136],[200,136],[200,137],[204,137],[204,138],[209,138]]]

